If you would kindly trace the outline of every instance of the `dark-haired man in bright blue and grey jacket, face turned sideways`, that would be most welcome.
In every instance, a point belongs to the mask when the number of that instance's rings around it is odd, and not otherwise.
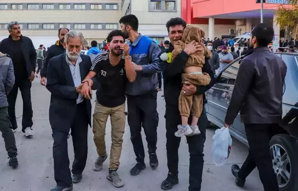
[[[134,82],[127,84],[128,124],[131,141],[137,157],[137,164],[131,169],[131,175],[139,175],[146,168],[145,151],[141,136],[142,126],[148,143],[149,163],[151,168],[158,166],[156,156],[158,113],[157,107],[157,72],[161,72],[158,61],[160,49],[149,37],[138,32],[139,21],[133,15],[125,15],[120,20],[122,31],[129,38],[130,56],[137,72]]]

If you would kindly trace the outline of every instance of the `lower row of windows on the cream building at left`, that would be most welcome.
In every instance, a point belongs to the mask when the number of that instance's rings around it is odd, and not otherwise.
[[[72,28],[71,24],[59,24],[59,28]],[[7,24],[0,24],[0,29],[6,29]],[[20,28],[23,28],[23,24],[20,24]],[[37,30],[37,29],[57,29],[55,24],[28,24],[27,29]],[[73,29],[86,29],[86,24],[74,24]],[[90,29],[118,29],[118,24],[90,24]]]

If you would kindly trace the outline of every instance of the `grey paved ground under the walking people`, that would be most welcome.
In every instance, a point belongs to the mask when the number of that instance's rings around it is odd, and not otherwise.
[[[51,138],[51,127],[48,119],[50,94],[44,87],[41,87],[39,79],[34,80],[31,94],[34,113],[34,137],[32,139],[26,139],[20,130],[22,101],[21,97],[18,96],[16,104],[18,129],[15,133],[15,138],[18,148],[19,168],[12,170],[7,165],[7,154],[4,149],[3,139],[0,139],[0,191],[49,191],[56,184],[54,181],[52,157],[53,140]],[[158,168],[154,171],[150,169],[149,157],[147,155],[147,169],[139,176],[133,177],[130,175],[129,170],[135,165],[135,155],[127,124],[120,161],[121,166],[118,170],[119,175],[125,181],[126,185],[120,189],[114,188],[106,179],[108,160],[104,163],[101,172],[94,172],[91,168],[96,159],[96,151],[90,129],[88,135],[89,152],[87,165],[83,172],[83,180],[79,184],[74,185],[74,191],[161,191],[160,184],[167,175],[165,120],[163,118],[165,103],[161,94],[158,94],[157,104],[160,116],[157,142]],[[111,143],[110,128],[111,126],[108,124],[106,133],[107,150],[110,149],[109,145]],[[233,140],[228,164],[215,166],[211,160],[211,145],[214,131],[215,129],[209,129],[207,131],[202,191],[244,191],[235,186],[234,178],[230,173],[230,166],[231,164],[243,163],[248,149],[240,142]],[[146,143],[144,134],[143,138]],[[72,163],[73,147],[71,138],[69,139],[69,153]],[[185,138],[182,138],[179,154],[179,184],[172,191],[187,191],[189,154]],[[262,191],[262,185],[259,181],[257,171],[254,171],[247,179],[245,190]]]

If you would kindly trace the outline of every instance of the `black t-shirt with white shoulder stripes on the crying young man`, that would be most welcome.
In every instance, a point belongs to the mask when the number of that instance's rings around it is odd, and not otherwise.
[[[91,71],[96,73],[99,87],[96,91],[96,99],[105,107],[117,107],[125,103],[127,77],[125,73],[125,60],[121,60],[116,66],[112,66],[109,54],[97,56],[92,63]]]

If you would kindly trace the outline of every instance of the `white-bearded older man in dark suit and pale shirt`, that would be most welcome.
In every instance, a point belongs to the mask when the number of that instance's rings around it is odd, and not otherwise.
[[[51,92],[49,119],[53,130],[54,173],[57,186],[51,191],[72,191],[82,179],[87,159],[87,131],[91,126],[91,102],[81,94],[82,80],[91,68],[89,56],[81,55],[84,36],[78,31],[66,34],[66,53],[52,58],[46,88]],[[71,177],[68,134],[72,129],[74,163]]]

